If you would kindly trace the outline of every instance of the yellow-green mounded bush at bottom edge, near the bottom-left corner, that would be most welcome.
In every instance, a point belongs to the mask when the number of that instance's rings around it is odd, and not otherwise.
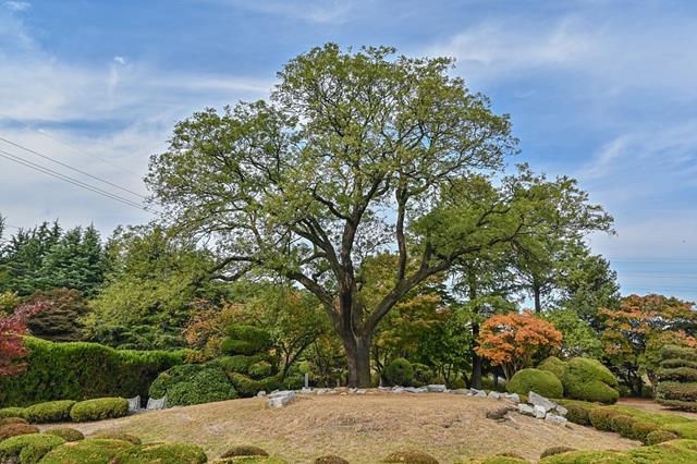
[[[135,447],[122,440],[85,439],[53,448],[41,464],[112,464],[117,455]]]

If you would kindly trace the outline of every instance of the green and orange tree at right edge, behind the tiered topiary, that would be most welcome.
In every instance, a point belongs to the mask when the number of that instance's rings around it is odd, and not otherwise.
[[[651,382],[656,371],[651,366],[651,342],[668,332],[697,335],[697,312],[693,303],[663,295],[629,295],[620,308],[603,308],[604,330],[600,338],[604,356],[635,395],[641,394],[643,376]]]

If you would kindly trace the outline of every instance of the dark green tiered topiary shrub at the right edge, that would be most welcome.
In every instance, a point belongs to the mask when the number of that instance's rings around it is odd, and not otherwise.
[[[661,357],[656,400],[665,406],[697,411],[697,350],[669,345]]]

